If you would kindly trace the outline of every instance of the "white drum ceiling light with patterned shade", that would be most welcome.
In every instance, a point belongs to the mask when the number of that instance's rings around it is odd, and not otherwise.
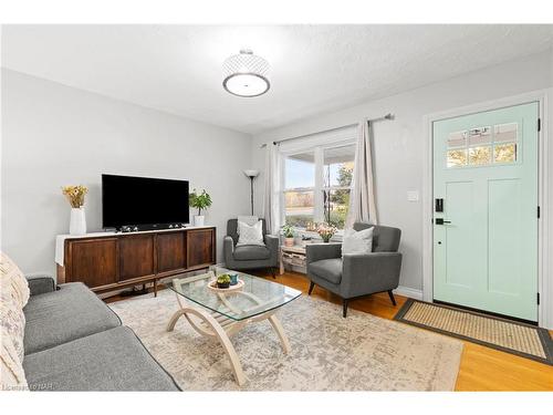
[[[249,49],[242,49],[239,54],[228,58],[222,69],[225,72],[222,86],[232,95],[259,96],[271,87],[269,62]]]

